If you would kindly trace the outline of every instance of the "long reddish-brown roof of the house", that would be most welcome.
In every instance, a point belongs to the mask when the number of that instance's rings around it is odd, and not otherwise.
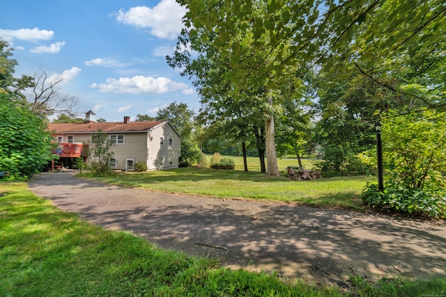
[[[89,123],[66,123],[49,124],[48,130],[51,133],[95,133],[98,130],[102,132],[138,132],[148,131],[166,122],[89,122]]]

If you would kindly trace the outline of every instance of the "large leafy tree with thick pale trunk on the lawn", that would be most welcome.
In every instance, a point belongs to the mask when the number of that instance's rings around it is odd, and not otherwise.
[[[264,16],[265,9],[264,6],[257,6],[252,13]],[[226,51],[222,51],[215,44],[217,33],[206,31],[206,28],[195,30],[192,27],[191,25],[189,30],[183,31],[176,55],[174,58],[168,57],[169,64],[173,67],[183,67],[183,75],[194,79],[194,85],[202,98],[201,115],[207,113],[207,119],[211,123],[224,120],[235,125],[245,120],[243,125],[239,125],[239,128],[243,128],[240,129],[240,136],[246,137],[248,133],[259,136],[256,139],[263,140],[262,145],[257,145],[259,150],[266,146],[263,152],[266,149],[268,175],[279,175],[274,119],[284,98],[293,97],[295,88],[286,86],[297,85],[296,71],[292,68],[284,71],[286,79],[282,80],[276,80],[273,73],[258,77],[256,67],[266,63],[270,53],[268,49],[259,50],[252,47],[252,33],[235,26],[234,38],[228,41],[232,45],[229,51],[232,51],[239,61],[244,58],[249,60],[243,62],[247,66],[246,71],[240,72],[240,67],[231,59],[232,56],[228,56]],[[262,38],[268,39],[270,36],[264,35]],[[192,57],[187,51],[189,48],[198,52],[198,56]],[[264,127],[260,131],[263,131],[265,136],[258,135],[259,121],[263,122]],[[262,163],[263,154],[259,152],[259,156]]]

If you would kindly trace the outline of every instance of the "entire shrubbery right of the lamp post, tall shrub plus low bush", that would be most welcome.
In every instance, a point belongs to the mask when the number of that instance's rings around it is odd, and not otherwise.
[[[383,120],[383,161],[388,182],[364,188],[371,207],[414,216],[446,218],[446,120],[444,113],[390,112]],[[370,161],[370,159],[368,159]]]

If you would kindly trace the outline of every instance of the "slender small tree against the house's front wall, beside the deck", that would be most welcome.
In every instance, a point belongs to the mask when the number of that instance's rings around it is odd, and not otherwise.
[[[113,173],[109,166],[109,161],[114,156],[112,147],[114,143],[109,139],[109,136],[102,131],[91,134],[91,141],[89,142],[88,168],[93,176],[104,176]]]

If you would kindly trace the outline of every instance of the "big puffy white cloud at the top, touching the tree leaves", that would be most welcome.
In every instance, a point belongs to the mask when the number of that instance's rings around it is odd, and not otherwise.
[[[128,11],[121,9],[116,19],[124,24],[151,28],[151,34],[159,38],[175,39],[183,28],[185,13],[186,9],[175,0],[162,0],[153,8],[136,6]]]

